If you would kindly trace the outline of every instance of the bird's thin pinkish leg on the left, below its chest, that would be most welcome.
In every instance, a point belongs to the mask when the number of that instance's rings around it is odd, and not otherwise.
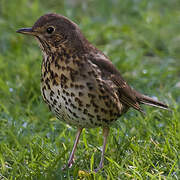
[[[75,153],[75,151],[76,151],[76,147],[77,147],[77,144],[78,144],[78,142],[79,142],[79,137],[80,137],[80,135],[81,135],[81,132],[82,132],[82,129],[83,128],[78,128],[78,130],[77,130],[77,134],[76,134],[76,139],[75,139],[75,141],[74,141],[74,145],[73,145],[73,149],[72,149],[72,152],[71,152],[71,155],[70,155],[70,157],[69,157],[69,160],[68,160],[68,164],[67,164],[67,167],[71,167],[72,166],[72,164],[73,164],[73,159],[74,159],[74,153]],[[66,168],[66,166],[63,168],[63,170]]]

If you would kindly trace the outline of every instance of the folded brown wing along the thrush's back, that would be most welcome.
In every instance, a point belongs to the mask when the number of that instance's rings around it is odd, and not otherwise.
[[[103,78],[110,79],[118,87],[119,100],[129,107],[143,112],[134,90],[122,78],[116,67],[105,56],[104,58],[90,58],[91,62],[99,67]]]

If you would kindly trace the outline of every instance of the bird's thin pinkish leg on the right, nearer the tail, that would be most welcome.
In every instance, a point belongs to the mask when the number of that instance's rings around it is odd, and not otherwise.
[[[95,172],[99,171],[104,166],[104,153],[105,153],[105,149],[106,149],[108,134],[109,134],[109,127],[104,127],[103,128],[104,141],[103,141],[103,149],[102,149],[102,153],[101,153],[101,161],[99,163],[99,167],[97,169],[95,169]]]

